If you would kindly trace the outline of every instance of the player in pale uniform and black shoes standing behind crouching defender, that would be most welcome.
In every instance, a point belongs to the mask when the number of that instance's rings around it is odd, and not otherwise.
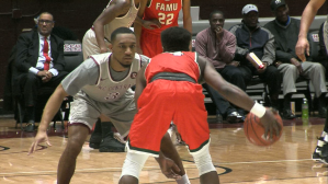
[[[82,41],[84,60],[91,56],[110,51],[111,34],[118,27],[129,27],[138,12],[140,0],[110,0],[106,8],[93,22]],[[112,133],[110,119],[102,118],[94,126],[90,137],[90,147],[100,152],[123,152],[124,139]],[[113,139],[114,136],[116,139]],[[118,141],[117,141],[118,140]]]

